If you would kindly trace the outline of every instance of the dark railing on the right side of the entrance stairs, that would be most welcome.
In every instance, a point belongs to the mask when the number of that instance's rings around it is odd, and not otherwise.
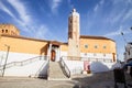
[[[63,58],[61,58],[61,66],[63,68],[64,74],[69,78],[70,77],[70,70],[69,70],[68,66],[66,65],[66,63],[64,62]]]

